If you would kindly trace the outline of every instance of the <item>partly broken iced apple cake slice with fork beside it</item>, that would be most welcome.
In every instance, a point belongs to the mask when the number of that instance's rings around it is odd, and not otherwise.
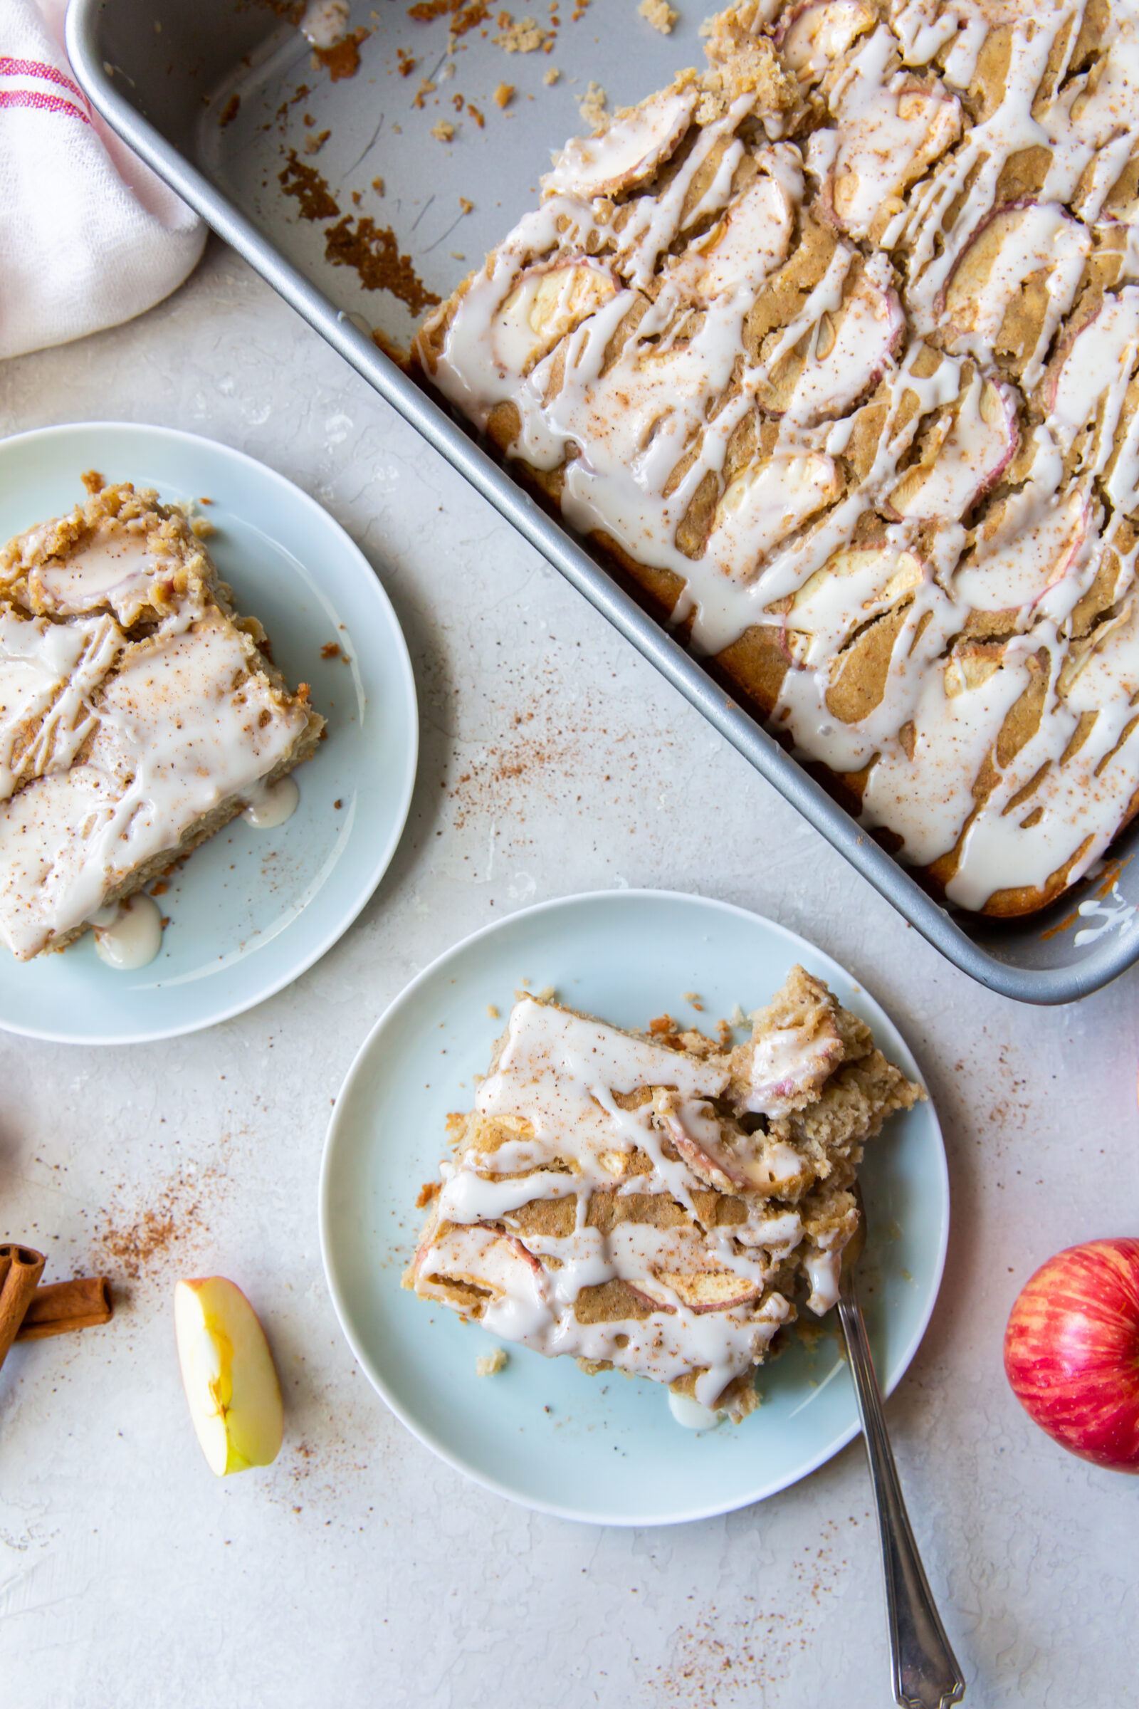
[[[924,1097],[794,967],[734,1049],[521,995],[403,1278],[425,1301],[589,1371],[734,1418],[796,1299],[825,1313],[857,1227],[862,1145]]]

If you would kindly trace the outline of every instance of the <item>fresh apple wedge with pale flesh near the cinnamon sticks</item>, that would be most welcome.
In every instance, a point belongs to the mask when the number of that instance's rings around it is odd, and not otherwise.
[[[174,1285],[174,1336],[190,1417],[210,1471],[268,1466],[283,1408],[256,1311],[225,1277]]]

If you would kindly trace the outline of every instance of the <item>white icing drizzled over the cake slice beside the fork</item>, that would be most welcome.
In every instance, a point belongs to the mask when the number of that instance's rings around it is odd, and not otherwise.
[[[799,1107],[804,1097],[787,1102],[789,1089],[818,1090],[840,1056],[833,1022],[830,1032],[823,1027],[821,1048],[816,1036],[794,1027],[774,1042],[758,1039],[751,1087],[738,1107]],[[644,1089],[654,1089],[654,1097],[635,1101]],[[490,1290],[482,1323],[492,1335],[550,1355],[608,1359],[661,1383],[700,1371],[697,1401],[712,1407],[734,1376],[760,1362],[791,1316],[774,1287],[780,1265],[801,1260],[809,1306],[821,1313],[830,1304],[832,1260],[847,1237],[845,1227],[835,1227],[833,1251],[806,1241],[796,1205],[772,1193],[809,1184],[809,1166],[763,1133],[753,1140],[755,1152],[780,1181],[745,1184],[745,1222],[700,1224],[693,1195],[716,1172],[709,1154],[724,1155],[721,1118],[709,1099],[733,1095],[727,1056],[700,1060],[519,1000],[499,1063],[476,1095],[478,1114],[517,1138],[490,1152],[471,1145],[454,1164],[444,1162],[437,1222],[415,1258],[417,1292],[446,1297],[447,1280],[475,1282]],[[739,1143],[751,1142],[741,1135]],[[601,1191],[668,1195],[688,1220],[671,1227],[616,1220],[603,1234],[587,1222],[591,1198]],[[572,1200],[572,1230],[555,1236],[526,1227],[519,1237],[487,1225],[509,1229],[519,1207],[534,1200]],[[582,1289],[615,1278],[654,1309],[642,1318],[579,1321],[574,1306]]]

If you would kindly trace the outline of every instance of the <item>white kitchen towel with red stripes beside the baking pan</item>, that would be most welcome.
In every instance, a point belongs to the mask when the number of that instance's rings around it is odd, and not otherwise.
[[[142,314],[205,227],[96,116],[63,50],[67,0],[0,0],[0,357]]]

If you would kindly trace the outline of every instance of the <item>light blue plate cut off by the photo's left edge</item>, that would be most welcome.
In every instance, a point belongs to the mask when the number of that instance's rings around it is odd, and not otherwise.
[[[277,831],[241,819],[174,873],[157,960],[114,972],[91,933],[61,955],[0,948],[0,1027],[75,1044],[195,1032],[280,991],[352,925],[391,860],[412,800],[418,719],[388,595],[343,528],[241,451],[128,422],[44,427],[0,443],[0,543],[84,497],[80,475],[212,499],[208,549],[241,612],[265,624],[290,685],[307,682],[328,738],[297,771]],[[321,658],[335,641],[347,655]]]

